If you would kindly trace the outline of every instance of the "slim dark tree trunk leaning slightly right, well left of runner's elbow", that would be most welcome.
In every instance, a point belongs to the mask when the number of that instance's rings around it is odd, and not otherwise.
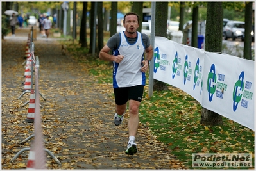
[[[87,19],[87,1],[83,1],[83,13],[81,16],[80,39],[79,39],[79,43],[81,44],[81,47],[87,47],[86,19]]]

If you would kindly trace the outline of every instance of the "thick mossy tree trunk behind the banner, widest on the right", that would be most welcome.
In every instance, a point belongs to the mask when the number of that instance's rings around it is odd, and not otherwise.
[[[222,49],[222,29],[223,29],[223,7],[221,2],[207,3],[207,19],[205,28],[205,51],[221,52]],[[203,108],[201,111],[200,124],[221,125],[223,120],[221,115]]]

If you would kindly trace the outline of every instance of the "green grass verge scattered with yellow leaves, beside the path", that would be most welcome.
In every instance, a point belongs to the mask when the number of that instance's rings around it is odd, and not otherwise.
[[[112,83],[110,63],[92,58],[87,49],[76,44],[70,43],[69,49],[75,58],[87,65],[99,84]],[[148,86],[145,86],[139,117],[142,126],[148,127],[167,145],[166,151],[175,154],[190,169],[193,169],[192,153],[252,153],[253,167],[250,169],[254,169],[254,131],[225,117],[222,126],[200,124],[201,109],[191,95],[171,85],[169,90],[153,92],[151,98],[148,97]]]

